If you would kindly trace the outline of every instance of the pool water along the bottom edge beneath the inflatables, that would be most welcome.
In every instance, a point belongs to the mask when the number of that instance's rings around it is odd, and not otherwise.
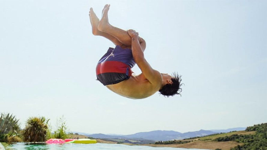
[[[6,150],[200,150],[200,149],[184,149],[184,148],[168,148],[168,147],[150,147],[150,146],[128,146],[123,144],[26,144],[14,143],[4,144]],[[202,149],[203,150],[203,149]]]

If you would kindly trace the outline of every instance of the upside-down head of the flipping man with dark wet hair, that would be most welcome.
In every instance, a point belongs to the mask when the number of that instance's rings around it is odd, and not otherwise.
[[[182,89],[180,88],[182,79],[177,73],[173,73],[172,76],[167,73],[162,73],[162,88],[159,90],[160,94],[164,96],[174,96],[176,94],[181,95]]]

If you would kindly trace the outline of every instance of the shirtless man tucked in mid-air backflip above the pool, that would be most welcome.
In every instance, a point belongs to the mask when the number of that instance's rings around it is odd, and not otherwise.
[[[181,76],[174,73],[159,73],[144,58],[146,42],[134,30],[124,31],[111,26],[108,22],[106,4],[99,20],[90,8],[89,16],[93,35],[103,36],[112,41],[116,47],[109,48],[99,60],[96,67],[97,80],[111,91],[132,99],[142,99],[153,95],[156,91],[164,96],[180,95]],[[142,73],[135,75],[131,68],[135,65]]]

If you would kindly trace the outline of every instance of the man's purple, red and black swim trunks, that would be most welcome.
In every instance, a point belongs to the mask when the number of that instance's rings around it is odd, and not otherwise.
[[[110,47],[96,66],[97,80],[103,85],[110,85],[129,79],[134,65],[132,49],[122,49],[118,45]]]

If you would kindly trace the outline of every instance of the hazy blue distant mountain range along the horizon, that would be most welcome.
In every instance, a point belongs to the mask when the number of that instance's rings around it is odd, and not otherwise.
[[[100,138],[100,139],[125,139],[125,140],[152,140],[152,141],[168,141],[168,140],[182,140],[191,137],[202,137],[211,134],[225,133],[231,131],[243,131],[246,128],[230,128],[226,130],[199,130],[194,132],[176,132],[176,131],[150,131],[150,132],[139,132],[136,134],[129,135],[117,135],[117,134],[83,134],[87,137]],[[73,132],[80,133],[80,132]]]

